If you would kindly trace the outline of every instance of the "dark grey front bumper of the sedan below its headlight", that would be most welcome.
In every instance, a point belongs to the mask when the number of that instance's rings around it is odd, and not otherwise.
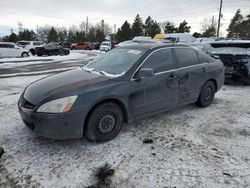
[[[72,111],[66,113],[37,113],[18,105],[23,122],[37,135],[46,138],[65,140],[83,136],[86,113]]]

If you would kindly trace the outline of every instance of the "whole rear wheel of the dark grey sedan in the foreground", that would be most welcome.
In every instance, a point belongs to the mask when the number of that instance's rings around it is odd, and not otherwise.
[[[214,100],[215,92],[216,92],[216,89],[215,89],[214,82],[207,81],[201,89],[201,92],[200,92],[200,95],[196,104],[201,107],[209,106]]]

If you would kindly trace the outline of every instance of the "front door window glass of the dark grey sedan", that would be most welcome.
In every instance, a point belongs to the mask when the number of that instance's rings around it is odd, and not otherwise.
[[[172,50],[167,48],[154,52],[147,58],[142,68],[152,68],[155,73],[172,70],[174,68]]]

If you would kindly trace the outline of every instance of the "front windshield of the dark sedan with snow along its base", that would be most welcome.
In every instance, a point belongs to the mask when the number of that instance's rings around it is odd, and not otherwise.
[[[86,71],[118,76],[128,71],[143,53],[144,51],[134,49],[114,49],[82,68]]]

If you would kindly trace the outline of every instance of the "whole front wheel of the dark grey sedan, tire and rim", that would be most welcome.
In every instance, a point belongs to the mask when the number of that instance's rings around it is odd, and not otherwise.
[[[84,132],[91,141],[103,142],[115,138],[123,124],[123,112],[112,102],[97,106],[91,113]]]

